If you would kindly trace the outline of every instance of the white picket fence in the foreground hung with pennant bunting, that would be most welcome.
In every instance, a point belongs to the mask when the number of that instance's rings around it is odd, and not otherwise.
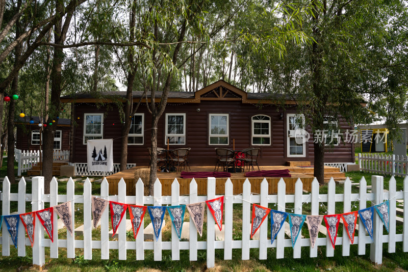
[[[372,176],[372,193],[367,192],[367,183],[363,177],[360,181],[360,193],[351,194],[351,182],[347,178],[344,183],[344,191],[342,194],[336,194],[336,184],[335,181],[330,179],[328,183],[327,194],[319,194],[319,183],[314,179],[312,183],[311,193],[303,193],[303,184],[300,179],[297,180],[295,184],[295,194],[286,195],[286,184],[283,179],[278,183],[278,194],[268,195],[268,182],[264,179],[261,183],[261,195],[251,194],[251,184],[248,179],[245,180],[243,184],[242,195],[233,195],[233,183],[230,179],[225,182],[225,197],[224,197],[224,214],[223,222],[225,230],[224,241],[219,241],[215,239],[215,221],[213,216],[209,215],[210,211],[207,209],[207,240],[197,241],[197,231],[194,224],[190,224],[190,234],[189,241],[180,241],[177,237],[174,228],[171,230],[171,241],[162,241],[161,234],[156,241],[144,241],[144,230],[140,228],[139,233],[135,241],[126,241],[126,226],[125,220],[122,220],[118,227],[118,240],[111,240],[109,237],[109,211],[105,212],[101,216],[100,220],[100,240],[93,240],[92,238],[92,215],[91,215],[91,196],[92,196],[92,184],[89,179],[86,179],[84,183],[84,194],[74,195],[74,182],[69,179],[67,182],[67,193],[66,195],[58,195],[58,181],[53,178],[50,184],[50,194],[45,195],[44,192],[44,178],[43,177],[33,177],[32,179],[32,194],[26,194],[25,192],[25,180],[21,178],[18,184],[18,194],[10,193],[10,182],[7,178],[3,181],[3,215],[10,214],[10,201],[18,202],[17,212],[24,213],[26,202],[32,203],[32,210],[40,210],[44,208],[44,203],[49,202],[50,206],[55,206],[59,203],[64,203],[66,201],[71,201],[72,208],[72,218],[74,218],[75,203],[83,203],[83,216],[84,216],[84,233],[83,240],[77,240],[74,236],[70,236],[67,232],[66,239],[58,239],[57,226],[57,214],[54,214],[54,242],[44,237],[44,228],[41,224],[37,223],[35,228],[35,238],[33,247],[33,264],[36,266],[43,266],[45,263],[45,248],[50,248],[50,258],[58,258],[59,248],[67,249],[67,257],[75,257],[75,249],[83,249],[84,259],[92,259],[92,250],[100,250],[101,259],[109,259],[110,250],[118,250],[118,256],[120,260],[126,260],[126,253],[128,250],[136,251],[136,259],[143,260],[144,253],[146,250],[154,251],[154,260],[162,260],[162,251],[171,250],[171,259],[179,260],[180,251],[188,250],[189,258],[191,261],[197,260],[197,251],[206,250],[207,251],[207,266],[214,267],[215,265],[215,249],[224,250],[224,259],[232,259],[233,249],[242,249],[242,260],[249,259],[249,252],[251,248],[259,248],[259,259],[266,259],[268,248],[276,249],[276,258],[284,258],[285,248],[292,247],[291,239],[285,239],[285,232],[283,230],[279,231],[276,239],[271,243],[270,237],[267,237],[268,233],[268,221],[265,222],[260,227],[260,238],[259,240],[250,239],[250,227],[251,227],[251,203],[259,203],[261,206],[267,207],[269,203],[274,203],[277,206],[276,210],[284,211],[287,204],[293,203],[294,208],[292,212],[301,214],[302,204],[311,203],[311,214],[322,214],[321,203],[327,207],[327,214],[335,213],[336,202],[343,203],[343,211],[349,212],[354,208],[354,203],[358,202],[359,209],[364,209],[367,206],[367,202],[371,201],[373,204],[382,203],[384,200],[389,199],[390,202],[390,216],[389,216],[389,233],[383,234],[383,225],[380,217],[377,213],[374,215],[373,222],[373,238],[371,240],[364,230],[364,225],[362,221],[359,221],[360,230],[359,236],[354,238],[353,245],[358,247],[358,254],[364,255],[366,252],[366,244],[370,244],[370,259],[380,264],[382,262],[382,244],[388,243],[388,252],[394,253],[396,242],[403,242],[403,251],[408,251],[408,213],[404,213],[403,222],[403,232],[396,233],[396,200],[403,199],[404,209],[408,208],[408,177],[404,179],[404,191],[396,192],[396,181],[392,177],[389,181],[389,192],[385,192],[384,178],[381,176]],[[101,183],[100,198],[106,200],[117,201],[127,204],[136,205],[179,205],[196,203],[201,201],[206,201],[209,199],[214,199],[218,196],[215,195],[215,178],[208,178],[207,181],[207,196],[197,196],[197,183],[193,179],[190,182],[190,192],[189,196],[180,196],[180,184],[174,179],[171,185],[171,196],[162,197],[162,185],[159,180],[156,180],[154,184],[154,195],[144,196],[143,190],[144,185],[141,179],[138,180],[135,186],[135,196],[126,196],[126,183],[123,179],[120,180],[118,184],[118,195],[109,196],[109,184],[106,179]],[[353,203],[353,204],[352,204]],[[233,204],[242,205],[242,240],[233,239]],[[273,205],[272,205],[273,206]],[[320,208],[320,210],[319,210]],[[291,209],[287,210],[291,212]],[[126,216],[126,215],[125,215]],[[73,224],[73,222],[72,222]],[[143,226],[143,222],[141,223]],[[3,236],[0,239],[2,243],[2,253],[3,256],[10,255],[10,235],[3,225]],[[322,226],[321,228],[324,228]],[[304,232],[303,232],[304,233]],[[18,256],[25,256],[25,247],[31,246],[30,240],[25,238],[25,230],[23,227],[18,229]],[[340,248],[341,246],[341,248]],[[296,244],[293,249],[293,258],[301,257],[301,247],[310,248],[310,257],[318,256],[318,248],[325,247],[325,255],[327,257],[334,256],[334,249],[331,246],[330,238],[320,237],[317,238],[315,247],[311,247],[309,238],[298,237]],[[347,235],[346,228],[343,228],[343,233],[338,233],[336,240],[336,250],[342,250],[343,256],[350,255],[350,239]],[[305,256],[303,256],[305,257]]]

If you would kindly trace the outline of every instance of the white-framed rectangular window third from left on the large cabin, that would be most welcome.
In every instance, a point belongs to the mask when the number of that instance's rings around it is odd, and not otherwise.
[[[186,144],[186,114],[166,114],[166,137],[171,145]]]

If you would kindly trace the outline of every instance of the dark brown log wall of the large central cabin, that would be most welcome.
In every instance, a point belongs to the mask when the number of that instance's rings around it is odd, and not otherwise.
[[[76,103],[73,138],[73,160],[71,162],[86,162],[86,145],[83,144],[84,114],[104,113],[103,138],[114,139],[114,162],[119,163],[120,158],[120,131],[121,124],[118,110],[114,105],[106,108],[96,108],[91,103]],[[200,111],[197,111],[197,108]],[[144,113],[144,144],[129,145],[127,162],[137,165],[148,165],[149,158],[147,147],[150,147],[151,115],[147,112],[146,105],[141,104],[138,113]],[[241,101],[201,101],[200,103],[168,103],[166,111],[160,118],[158,127],[158,146],[167,148],[165,144],[165,114],[186,114],[186,145],[170,145],[170,149],[190,147],[190,165],[214,165],[216,147],[233,148],[241,150],[247,147],[260,147],[260,165],[285,165],[286,161],[311,161],[313,165],[313,137],[305,147],[305,157],[287,156],[287,121],[286,113],[296,113],[295,110],[287,110],[284,118],[279,119],[277,108],[273,105],[263,105],[259,108],[257,104],[242,103]],[[209,114],[229,114],[229,145],[209,145]],[[251,117],[254,115],[267,115],[271,117],[271,145],[251,145]],[[80,119],[78,119],[78,117]],[[351,129],[344,121],[340,120],[342,130]],[[333,150],[326,152],[325,162],[352,162],[354,161],[354,150],[351,144],[341,144]]]

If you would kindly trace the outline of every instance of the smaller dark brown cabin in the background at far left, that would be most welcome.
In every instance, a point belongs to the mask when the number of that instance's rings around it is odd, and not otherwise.
[[[33,121],[31,124],[30,121]],[[41,119],[38,116],[19,117],[15,124],[17,126],[16,148],[20,150],[40,149],[40,127]],[[57,130],[54,137],[54,150],[69,150],[71,119],[59,118],[56,120]]]

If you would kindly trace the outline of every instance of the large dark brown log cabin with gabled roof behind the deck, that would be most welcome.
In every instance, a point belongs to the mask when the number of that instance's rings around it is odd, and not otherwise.
[[[91,94],[64,96],[63,103],[73,103],[74,121],[71,142],[73,163],[86,163],[89,139],[113,139],[114,163],[119,163],[121,122],[113,98],[125,97],[125,92],[104,93],[104,99]],[[133,93],[133,102],[141,99],[142,92]],[[156,94],[156,102],[161,93]],[[147,95],[150,101],[149,94]],[[104,102],[105,106],[96,105]],[[110,103],[111,102],[111,103]],[[166,110],[158,125],[158,146],[167,149],[189,147],[190,165],[215,165],[214,148],[224,147],[242,150],[248,147],[261,149],[259,165],[283,166],[288,161],[310,161],[313,165],[313,137],[305,143],[297,143],[294,130],[296,105],[286,99],[288,107],[278,110],[266,93],[247,93],[219,80],[197,92],[170,92]],[[106,106],[106,103],[110,103]],[[128,164],[147,166],[149,162],[151,115],[145,103],[132,117],[127,150]],[[304,118],[303,118],[304,120]],[[304,122],[304,121],[303,121]],[[340,129],[352,129],[346,120],[338,122]],[[305,124],[306,130],[308,125]],[[354,147],[339,141],[325,154],[325,162],[354,162]]]

